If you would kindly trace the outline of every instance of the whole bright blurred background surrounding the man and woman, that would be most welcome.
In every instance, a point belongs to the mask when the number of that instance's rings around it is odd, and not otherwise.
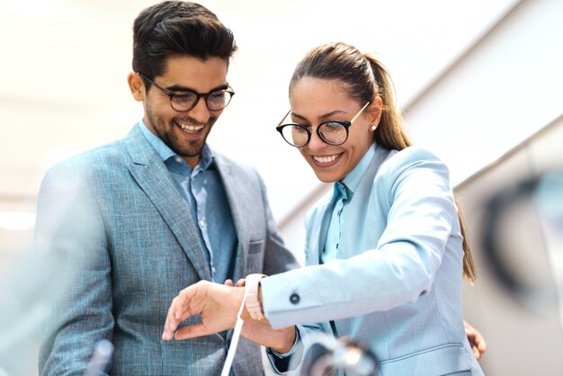
[[[147,0],[0,0],[0,376],[33,375],[57,264],[31,250],[40,179],[58,160],[121,139],[132,100],[131,26]],[[305,212],[328,188],[274,126],[308,49],[342,40],[394,79],[417,145],[451,168],[479,280],[465,317],[487,375],[563,370],[563,2],[201,1],[237,38],[237,95],[213,148],[255,166],[302,260]]]

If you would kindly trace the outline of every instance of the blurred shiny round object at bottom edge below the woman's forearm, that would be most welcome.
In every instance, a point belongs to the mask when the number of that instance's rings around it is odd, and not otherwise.
[[[337,370],[348,376],[375,376],[378,362],[364,345],[348,337],[314,336],[303,357],[300,376],[330,376]]]

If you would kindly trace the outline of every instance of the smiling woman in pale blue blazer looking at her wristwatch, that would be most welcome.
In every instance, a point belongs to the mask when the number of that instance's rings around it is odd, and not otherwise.
[[[247,279],[253,319],[243,335],[270,346],[274,363],[321,329],[366,345],[385,375],[480,375],[460,301],[462,271],[470,281],[475,273],[448,169],[410,147],[391,89],[376,59],[344,43],[312,49],[299,62],[290,82],[293,122],[277,130],[335,189],[308,214],[308,266],[259,283],[253,276],[252,286]],[[174,300],[163,338],[191,314],[201,314],[201,325],[176,338],[233,327],[243,295],[193,285]],[[296,336],[292,326],[311,322],[321,324]]]

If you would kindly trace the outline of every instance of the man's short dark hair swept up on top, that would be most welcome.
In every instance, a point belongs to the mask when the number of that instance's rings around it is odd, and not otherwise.
[[[133,24],[133,70],[154,78],[165,73],[165,59],[228,59],[237,50],[235,37],[203,5],[165,1],[149,6]]]

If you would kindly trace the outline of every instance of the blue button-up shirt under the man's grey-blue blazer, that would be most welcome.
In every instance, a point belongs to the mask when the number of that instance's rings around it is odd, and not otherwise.
[[[162,139],[147,129],[144,121],[139,121],[139,128],[164,161],[190,210],[193,222],[199,229],[201,245],[207,250],[212,281],[222,283],[232,279],[237,231],[212,151],[206,144],[201,150],[200,163],[192,171],[183,157],[174,153]]]

